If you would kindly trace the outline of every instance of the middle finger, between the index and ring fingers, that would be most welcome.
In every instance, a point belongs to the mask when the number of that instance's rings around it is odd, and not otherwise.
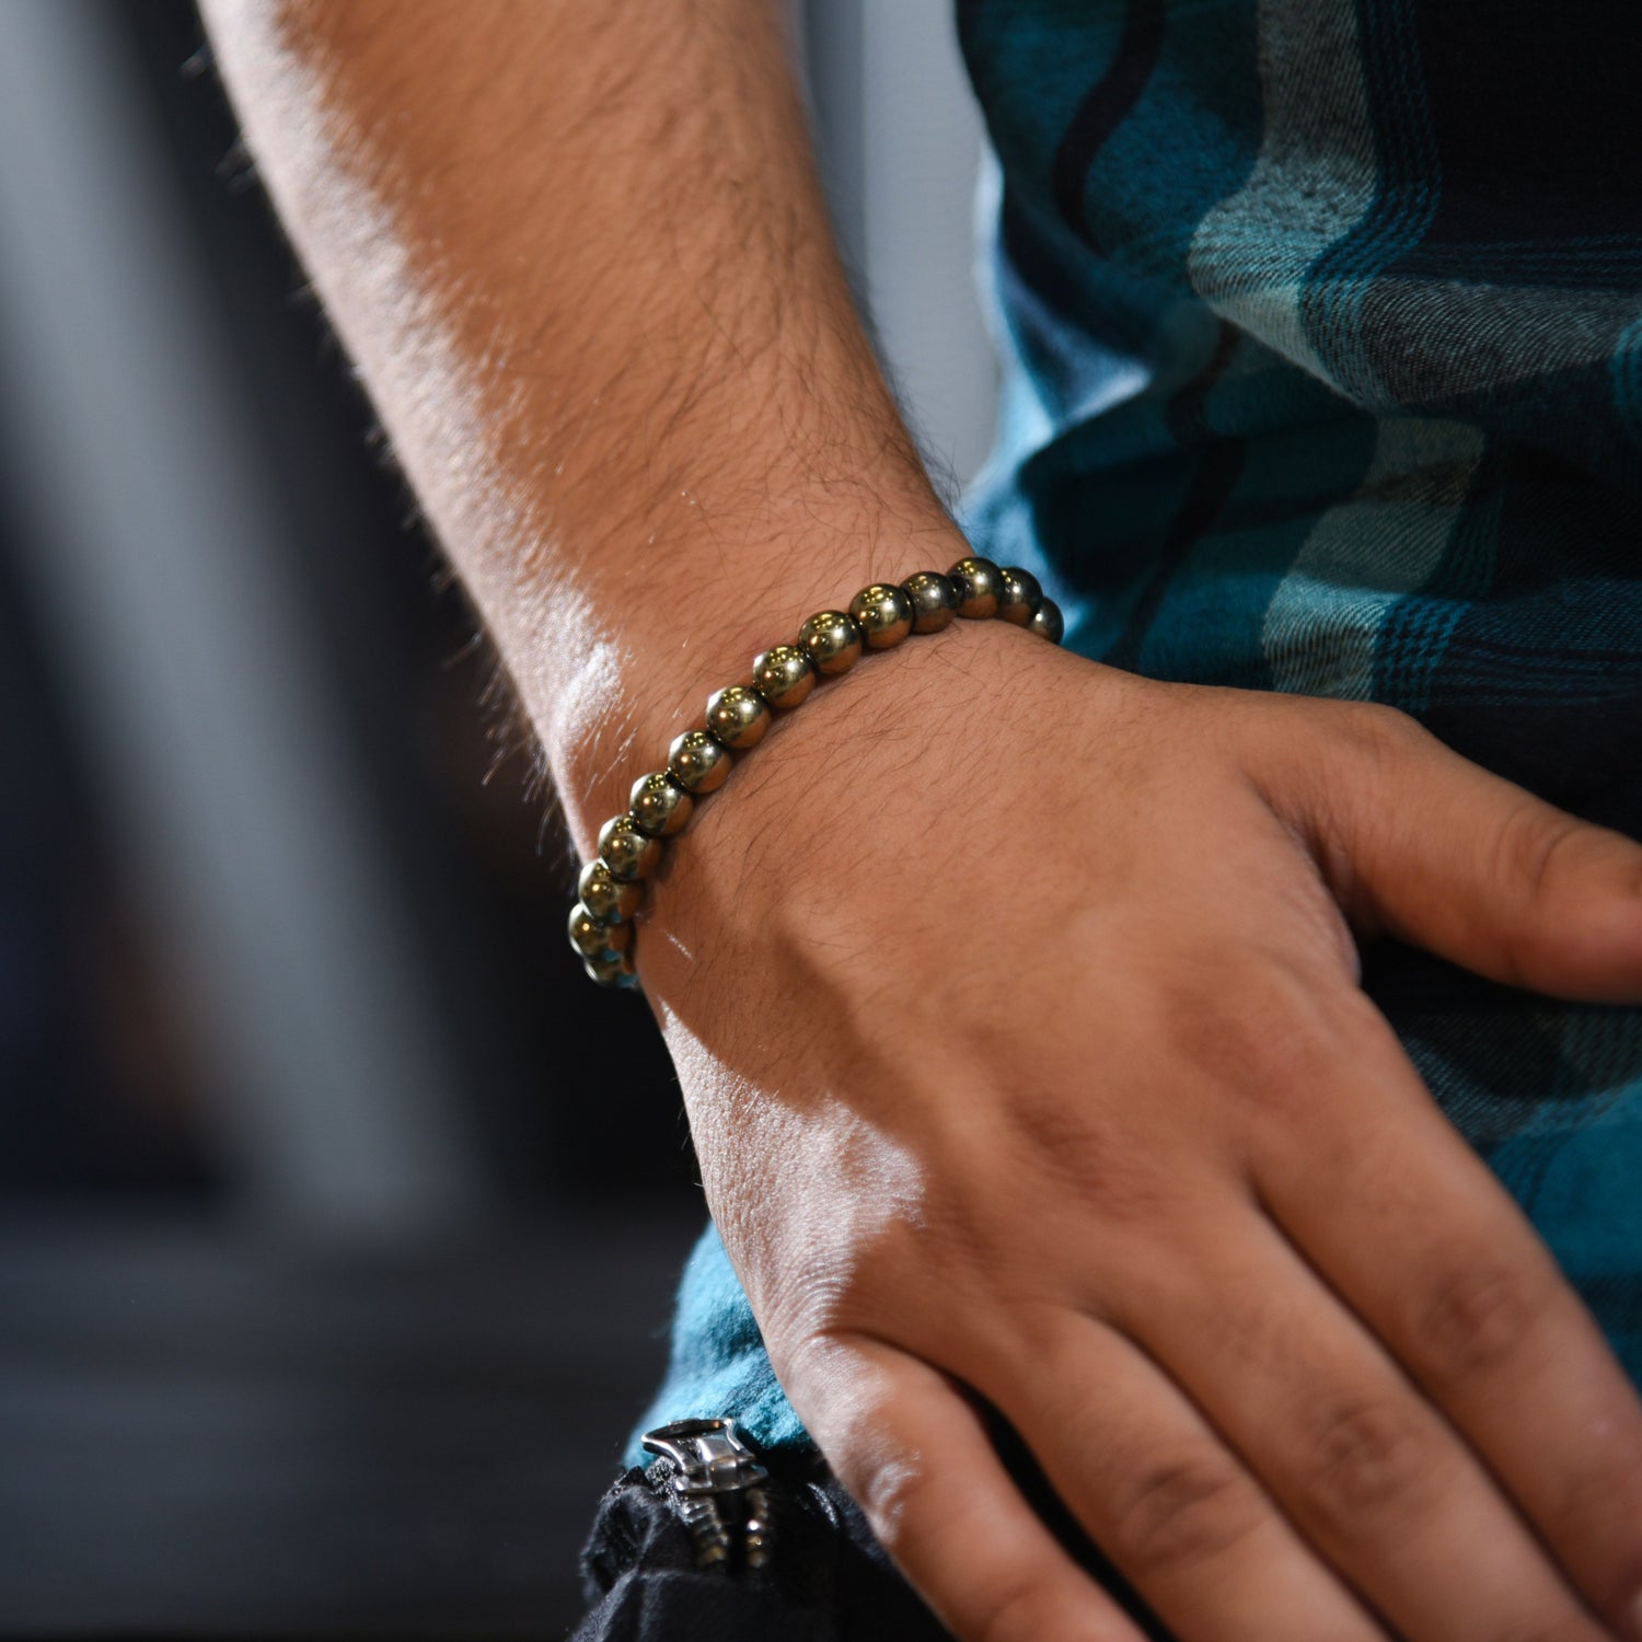
[[[1406,1642],[1601,1642],[1461,1435],[1263,1215],[1110,1315]]]

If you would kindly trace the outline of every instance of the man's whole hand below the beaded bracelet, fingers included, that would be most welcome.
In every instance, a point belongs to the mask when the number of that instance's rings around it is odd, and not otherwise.
[[[1386,709],[913,640],[778,726],[639,943],[782,1384],[965,1642],[1642,1634],[1642,1412],[1356,985],[1642,998],[1642,849]],[[1604,1629],[1604,1624],[1612,1632]]]

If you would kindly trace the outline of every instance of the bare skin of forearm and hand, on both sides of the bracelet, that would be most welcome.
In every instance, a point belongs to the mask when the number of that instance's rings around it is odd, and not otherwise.
[[[965,552],[759,0],[207,0],[258,164],[583,854],[755,649]],[[964,1642],[1642,1639],[1642,1406],[1358,987],[1642,1002],[1642,849],[1384,709],[998,624],[670,851],[645,992],[782,1384]]]

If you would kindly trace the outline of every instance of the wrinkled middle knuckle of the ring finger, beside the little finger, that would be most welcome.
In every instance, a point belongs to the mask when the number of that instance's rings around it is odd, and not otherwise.
[[[1112,1550],[1120,1566],[1161,1573],[1209,1562],[1253,1532],[1264,1514],[1250,1479],[1212,1450],[1149,1461],[1113,1506]]]

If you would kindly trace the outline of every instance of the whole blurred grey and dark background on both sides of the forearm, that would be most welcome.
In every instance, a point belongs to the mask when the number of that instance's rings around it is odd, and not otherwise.
[[[964,478],[947,0],[798,34]],[[200,44],[0,3],[0,1631],[557,1635],[699,1227],[678,1092]]]

